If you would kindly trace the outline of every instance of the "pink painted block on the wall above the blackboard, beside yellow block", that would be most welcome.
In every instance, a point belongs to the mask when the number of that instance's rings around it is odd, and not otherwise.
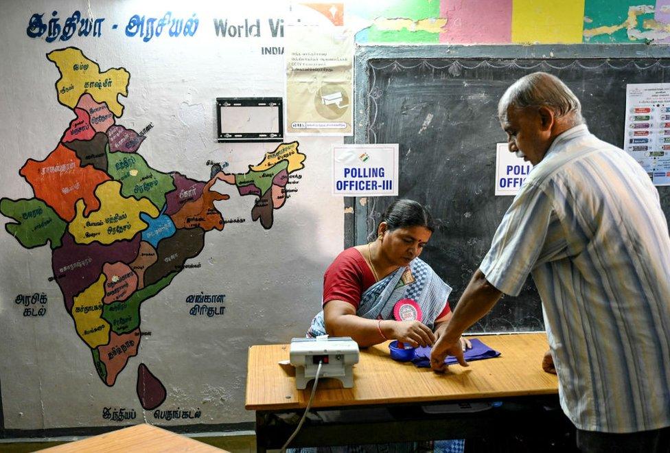
[[[440,16],[447,18],[440,43],[511,43],[512,0],[441,0]]]

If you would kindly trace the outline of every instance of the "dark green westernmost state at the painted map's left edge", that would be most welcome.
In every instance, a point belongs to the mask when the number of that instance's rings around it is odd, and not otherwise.
[[[43,246],[47,242],[51,242],[51,248],[60,247],[67,223],[42,200],[3,198],[0,200],[0,213],[19,222],[5,224],[5,229],[25,248]]]

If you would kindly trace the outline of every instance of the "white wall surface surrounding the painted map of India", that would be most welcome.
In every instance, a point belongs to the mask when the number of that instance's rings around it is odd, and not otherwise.
[[[251,4],[253,3],[253,5]],[[209,179],[205,163],[227,161],[231,172],[246,172],[277,143],[216,143],[215,98],[221,96],[283,96],[283,56],[262,55],[261,47],[281,47],[271,38],[268,19],[287,19],[284,2],[92,1],[91,12],[105,18],[100,37],[73,36],[47,43],[29,38],[27,23],[35,12],[58,11],[62,25],[74,10],[88,15],[85,1],[5,2],[0,14],[0,196],[32,198],[30,185],[19,175],[29,158],[42,160],[56,148],[73,119],[60,104],[54,83],[56,66],[49,51],[74,46],[104,71],[124,67],[130,72],[128,98],[116,120],[126,128],[154,128],[139,148],[149,165],[178,171],[201,181]],[[235,11],[231,11],[235,8]],[[163,32],[148,43],[128,37],[124,27],[132,14],[188,19],[195,12],[198,31],[172,38]],[[221,38],[213,18],[260,19],[261,38]],[[112,24],[118,24],[112,30]],[[46,34],[45,34],[46,35]],[[230,194],[217,202],[224,218],[243,217],[223,231],[205,235],[205,248],[156,297],[141,307],[143,337],[139,353],[130,358],[114,386],[95,373],[91,350],[80,340],[63,305],[51,270],[49,246],[26,249],[4,229],[0,231],[0,382],[4,426],[8,429],[70,428],[119,424],[102,417],[105,407],[132,409],[135,422],[238,423],[253,420],[244,410],[247,348],[288,342],[302,336],[319,310],[323,271],[343,245],[343,201],[330,194],[330,146],[341,137],[286,137],[299,141],[307,155],[303,178],[275,222],[264,230],[251,221],[253,196]],[[8,218],[2,217],[3,222]],[[189,315],[189,294],[226,294],[224,316]],[[17,294],[45,292],[47,314],[24,317]],[[200,419],[156,420],[143,412],[135,392],[137,366],[148,365],[167,388],[161,410],[196,410]],[[124,423],[128,423],[127,421]]]

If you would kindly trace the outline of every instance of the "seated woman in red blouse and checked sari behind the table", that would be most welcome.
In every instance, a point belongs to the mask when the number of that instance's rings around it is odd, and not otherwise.
[[[450,286],[419,259],[434,229],[418,202],[393,202],[377,240],[347,248],[326,270],[323,311],[308,336],[350,336],[360,347],[386,340],[431,346],[452,316]],[[461,338],[461,346],[469,341]]]

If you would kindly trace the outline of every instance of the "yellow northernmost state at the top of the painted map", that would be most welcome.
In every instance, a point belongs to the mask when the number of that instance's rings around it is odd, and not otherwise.
[[[96,102],[105,102],[116,117],[123,114],[124,106],[117,97],[128,95],[130,73],[126,69],[108,69],[101,73],[96,62],[74,47],[51,51],[47,58],[56,63],[61,74],[56,82],[61,104],[75,108],[81,95],[89,93]]]

